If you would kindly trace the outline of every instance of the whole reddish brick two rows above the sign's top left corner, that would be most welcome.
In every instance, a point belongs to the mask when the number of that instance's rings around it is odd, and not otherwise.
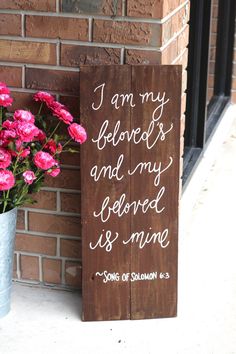
[[[26,36],[88,40],[88,20],[80,18],[26,16]]]

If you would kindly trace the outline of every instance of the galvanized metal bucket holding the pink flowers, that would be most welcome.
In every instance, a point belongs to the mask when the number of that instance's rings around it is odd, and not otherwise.
[[[17,208],[0,214],[0,318],[10,311]]]

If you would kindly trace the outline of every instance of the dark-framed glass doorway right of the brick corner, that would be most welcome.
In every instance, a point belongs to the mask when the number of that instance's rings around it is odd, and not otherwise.
[[[235,9],[235,0],[191,1],[184,187],[230,102]]]

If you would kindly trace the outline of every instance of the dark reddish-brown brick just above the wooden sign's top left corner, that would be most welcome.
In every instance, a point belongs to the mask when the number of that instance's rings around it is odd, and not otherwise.
[[[120,49],[62,44],[61,65],[120,64]]]

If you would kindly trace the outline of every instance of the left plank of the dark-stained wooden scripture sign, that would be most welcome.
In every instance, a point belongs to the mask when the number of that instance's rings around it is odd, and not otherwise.
[[[130,164],[130,146],[121,141],[117,146],[106,142],[103,147],[105,140],[98,139],[99,132],[101,136],[102,131],[104,136],[112,133],[119,121],[119,131],[130,130],[130,107],[116,108],[111,103],[114,95],[130,92],[130,77],[129,66],[84,66],[80,73],[81,123],[88,133],[88,141],[81,147],[82,289],[83,319],[86,321],[130,318],[130,283],[120,279],[122,274],[130,272],[131,248],[123,247],[121,242],[130,232],[130,216],[125,214],[119,218],[111,213],[108,218],[107,208],[103,215],[99,215],[106,198],[110,206],[123,193],[129,199],[130,177],[126,171]],[[103,103],[99,108],[102,96]],[[99,173],[104,166],[112,166],[117,175],[109,179],[107,171],[105,178],[102,174],[95,182],[91,171],[94,175],[96,168]],[[117,170],[114,169],[116,166],[119,166]],[[115,239],[114,242],[107,242],[105,235],[110,241]]]

